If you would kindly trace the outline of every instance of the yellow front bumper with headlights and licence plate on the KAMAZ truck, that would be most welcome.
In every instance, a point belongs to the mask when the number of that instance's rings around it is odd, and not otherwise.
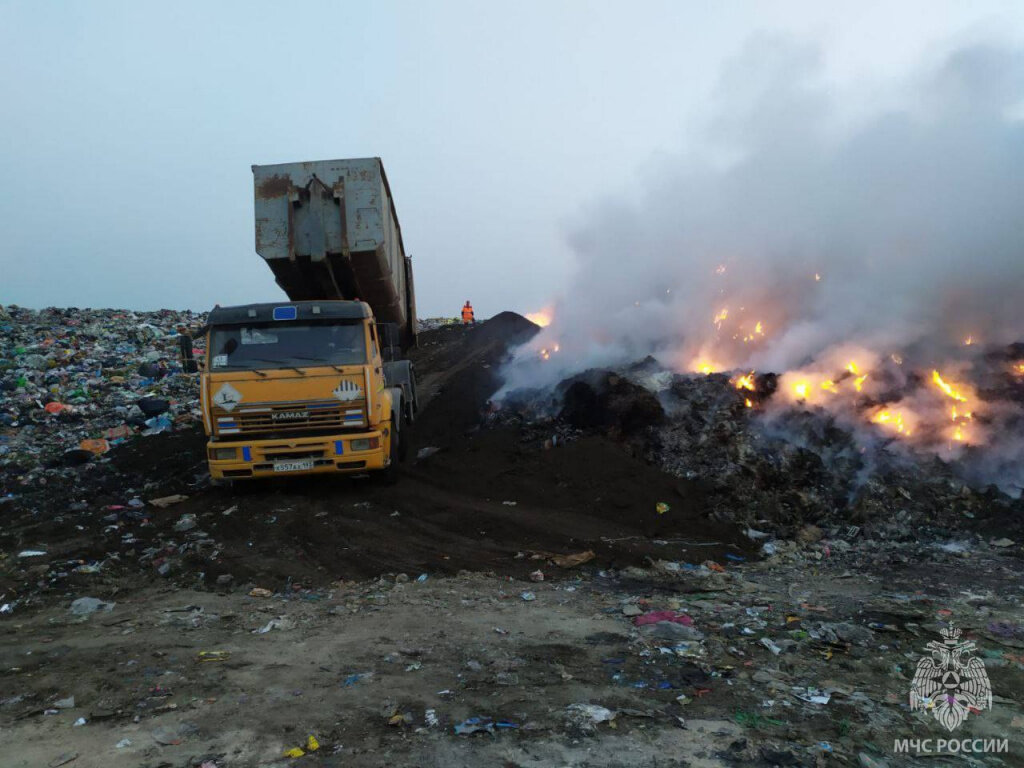
[[[353,451],[353,440],[377,439],[377,447]],[[319,437],[222,440],[207,443],[210,476],[215,480],[282,477],[328,472],[371,472],[389,464],[388,430]],[[234,449],[233,459],[214,459],[214,451]]]

